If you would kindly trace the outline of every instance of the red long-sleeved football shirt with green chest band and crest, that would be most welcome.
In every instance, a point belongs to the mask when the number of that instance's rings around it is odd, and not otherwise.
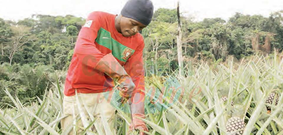
[[[99,11],[88,16],[79,32],[66,76],[66,96],[75,95],[75,89],[80,93],[100,93],[113,89],[112,78],[95,69],[98,61],[108,53],[112,53],[131,76],[136,85],[134,92],[144,90],[144,39],[140,33],[131,37],[119,33],[115,28],[116,16]]]

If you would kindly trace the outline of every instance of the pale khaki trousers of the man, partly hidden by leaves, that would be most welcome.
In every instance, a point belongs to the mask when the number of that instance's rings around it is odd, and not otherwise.
[[[113,91],[110,91],[109,93],[111,94]],[[78,93],[77,95],[80,101],[80,108],[83,110],[82,112],[85,115],[87,122],[93,122],[92,118],[95,120],[93,124],[95,126],[92,125],[88,131],[97,132],[99,135],[105,134],[102,118],[107,120],[110,130],[115,131],[113,129],[113,121],[116,109],[110,104],[109,99],[106,99],[103,96],[103,93]],[[80,111],[76,100],[76,96],[64,96],[63,99],[63,115],[66,117],[61,120],[61,126],[63,132],[70,131],[69,135],[73,135],[74,132],[80,135],[84,129],[84,125],[80,117],[81,113],[79,113]],[[85,107],[87,107],[87,109]],[[74,124],[76,126],[74,126]]]

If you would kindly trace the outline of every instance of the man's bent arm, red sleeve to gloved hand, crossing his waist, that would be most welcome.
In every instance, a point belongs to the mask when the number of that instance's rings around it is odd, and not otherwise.
[[[100,12],[92,12],[88,16],[78,35],[74,51],[75,56],[82,64],[82,72],[90,75],[92,72],[88,72],[88,70],[96,69],[104,72],[109,77],[117,79],[121,84],[119,87],[121,94],[124,97],[129,97],[128,93],[131,93],[135,87],[130,76],[111,53],[103,54],[96,48],[95,40],[99,29],[102,27],[102,22]]]

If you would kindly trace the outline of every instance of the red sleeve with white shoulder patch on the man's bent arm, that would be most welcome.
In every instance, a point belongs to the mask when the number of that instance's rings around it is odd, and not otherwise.
[[[78,35],[74,53],[87,68],[94,68],[98,61],[105,55],[95,45],[97,33],[100,28],[101,18],[99,12],[92,12],[88,15],[86,23],[82,26]],[[88,60],[91,60],[91,62],[88,62]]]

